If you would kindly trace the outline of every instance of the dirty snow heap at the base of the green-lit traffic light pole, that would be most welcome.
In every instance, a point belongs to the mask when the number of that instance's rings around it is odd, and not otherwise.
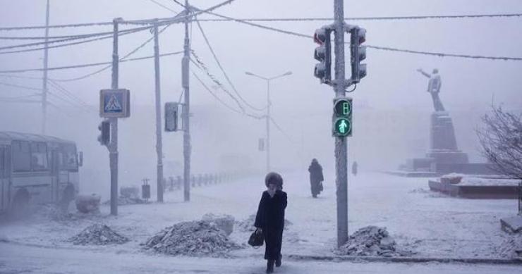
[[[336,250],[339,255],[350,256],[405,256],[405,252],[396,249],[396,242],[386,228],[374,225],[357,230],[348,238],[348,242]]]

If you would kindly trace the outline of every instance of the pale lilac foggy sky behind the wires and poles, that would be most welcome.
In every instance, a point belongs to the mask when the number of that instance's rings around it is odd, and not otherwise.
[[[175,11],[181,8],[169,0],[158,0],[162,4],[171,7]],[[220,3],[221,0],[193,0],[190,4],[205,8]],[[228,6],[219,8],[216,13],[229,15],[234,18],[291,18],[291,17],[329,17],[333,15],[333,1],[324,0],[236,0]],[[403,1],[403,0],[372,0],[372,1],[345,1],[346,17],[363,16],[393,16],[393,15],[459,15],[459,14],[481,14],[481,13],[521,13],[522,2],[511,1],[471,1],[471,0],[437,0],[437,1]],[[173,15],[151,1],[148,0],[51,0],[51,25],[66,23],[87,23],[105,22],[112,18],[122,17],[127,20],[162,18]],[[210,18],[209,15],[201,16]],[[45,1],[44,0],[0,0],[0,26],[22,26],[22,25],[44,25],[45,20]],[[451,54],[471,54],[485,56],[522,56],[522,39],[520,26],[522,18],[476,18],[476,19],[443,19],[443,20],[383,20],[383,21],[359,21],[348,22],[358,24],[367,29],[367,44],[375,46],[391,46],[399,49],[413,49],[419,51],[437,51]],[[327,22],[298,22],[298,23],[260,23],[279,27],[284,30],[292,30],[307,35],[312,35],[316,28],[327,24]],[[255,27],[240,23],[202,23],[205,34],[219,57],[221,64],[233,80],[234,85],[241,92],[242,96],[250,104],[262,107],[266,104],[265,82],[245,75],[245,71],[251,71],[266,77],[279,75],[288,70],[293,75],[275,80],[272,83],[272,115],[278,123],[284,127],[293,144],[289,149],[289,141],[284,135],[277,133],[272,127],[274,148],[279,149],[279,154],[274,154],[274,163],[287,166],[289,162],[296,161],[296,151],[299,147],[305,147],[305,155],[299,157],[299,161],[308,163],[309,158],[319,154],[322,158],[332,156],[333,139],[329,132],[329,120],[332,113],[332,98],[334,93],[331,87],[320,85],[319,81],[313,77],[313,67],[316,61],[313,59],[315,44],[311,39],[293,37],[269,30],[260,30]],[[125,27],[121,27],[123,29]],[[182,25],[172,25],[160,36],[160,52],[181,51],[183,48]],[[49,35],[68,35],[72,33],[89,33],[98,31],[109,31],[107,27],[79,27],[75,29],[51,29]],[[43,30],[37,31],[16,31],[1,32],[2,36],[43,36]],[[120,56],[128,53],[150,37],[150,32],[140,32],[138,34],[126,35],[120,40]],[[0,46],[9,44],[22,44],[23,41],[7,42],[0,41]],[[197,25],[193,25],[192,46],[195,52],[210,68],[221,82],[225,82],[219,68],[212,59],[210,51],[200,35]],[[49,50],[49,67],[69,66],[81,63],[93,63],[110,61],[111,59],[111,39],[101,42],[93,42],[67,48]],[[22,69],[22,68],[41,68],[42,52],[30,52],[24,54],[0,55],[0,70]],[[133,57],[152,55],[152,43],[147,44],[138,51]],[[450,113],[473,112],[471,120],[478,123],[478,117],[488,110],[489,105],[494,99],[495,103],[503,103],[509,108],[522,106],[521,92],[521,68],[522,62],[515,61],[487,61],[462,58],[440,58],[437,56],[422,56],[417,54],[403,54],[390,51],[380,51],[368,49],[367,60],[368,76],[365,77],[353,96],[356,106],[364,105],[374,111],[411,111],[412,113],[425,112],[423,117],[425,123],[411,127],[408,132],[401,132],[401,136],[411,135],[411,132],[419,132],[423,139],[427,139],[427,121],[429,112],[432,111],[432,102],[429,94],[425,92],[427,79],[417,73],[415,69],[423,68],[431,71],[432,68],[439,68],[442,75],[441,98],[444,106]],[[192,67],[200,76],[205,79],[207,85],[212,87],[212,82],[203,73]],[[348,66],[347,66],[348,68]],[[49,73],[49,77],[63,79],[76,77],[90,73],[98,68],[83,68],[78,70],[55,70]],[[181,56],[164,57],[161,60],[162,77],[162,101],[177,101],[181,92]],[[41,77],[42,73],[24,73],[20,75]],[[347,75],[348,77],[349,75]],[[110,87],[110,70],[100,73],[85,80],[75,82],[64,82],[62,85],[73,92],[83,101],[97,108],[99,89]],[[205,123],[217,125],[244,125],[248,129],[242,131],[245,135],[238,135],[230,144],[245,144],[245,147],[257,149],[257,137],[264,135],[264,123],[257,120],[238,117],[237,114],[228,112],[226,108],[219,105],[208,94],[199,83],[191,78],[191,102],[194,109],[212,109],[218,116],[203,115],[194,113],[195,119],[207,118]],[[0,82],[8,82],[18,85],[28,85],[40,88],[41,80],[19,80],[16,78],[0,77]],[[136,61],[122,63],[120,65],[120,87],[130,89],[132,94],[133,107],[154,106],[154,67],[152,59],[146,61]],[[229,87],[229,90],[231,88]],[[0,96],[17,96],[19,94],[29,94],[23,89],[0,86]],[[228,103],[233,104],[226,94],[217,91]],[[51,100],[63,108],[71,108],[65,102],[51,96]],[[2,127],[1,130],[20,130],[26,132],[39,132],[37,113],[40,105],[30,105],[32,114],[23,111],[27,106],[1,104]],[[10,123],[6,119],[8,113],[15,113],[20,116],[18,123]],[[145,108],[140,108],[145,109]],[[152,111],[152,108],[150,108]],[[354,115],[358,115],[356,108]],[[255,111],[250,111],[255,113]],[[123,120],[122,130],[130,128],[137,119],[136,116],[150,117],[147,124],[150,134],[147,134],[147,149],[150,149],[150,173],[153,174],[155,161],[154,157],[154,120],[153,113],[140,114],[133,112],[131,118]],[[28,119],[32,120],[30,124]],[[99,147],[95,141],[97,130],[95,129],[99,118],[97,113],[85,114],[81,117],[85,124],[78,125],[78,120],[70,118],[60,118],[59,113],[51,113],[50,116],[55,120],[63,119],[63,123],[70,123],[71,126],[79,127],[85,131],[83,137],[84,147],[92,149],[93,153],[104,154],[105,149]],[[87,118],[86,118],[87,117]],[[363,117],[363,116],[359,116]],[[88,122],[87,122],[88,120]],[[13,120],[12,120],[13,121]],[[11,122],[12,122],[11,121]],[[457,120],[456,124],[457,139],[460,144],[467,139],[474,139],[470,120],[463,116]],[[25,123],[20,125],[20,123]],[[125,125],[125,124],[128,125]],[[365,120],[356,120],[354,134],[361,132]],[[250,125],[250,126],[249,126]],[[302,125],[302,126],[299,126]],[[459,127],[459,125],[463,125]],[[303,128],[302,128],[303,127]],[[359,127],[359,129],[357,128]],[[367,127],[370,127],[367,125]],[[88,128],[88,130],[86,130]],[[205,127],[203,127],[204,130]],[[219,127],[217,127],[219,128]],[[406,127],[405,127],[406,128]],[[363,130],[364,132],[364,130]],[[80,133],[71,135],[65,130],[56,129],[50,132],[66,137],[78,137]],[[139,127],[133,133],[121,133],[124,136],[145,133],[140,132]],[[200,132],[195,139],[205,139],[205,132]],[[219,135],[219,130],[217,135]],[[389,134],[384,132],[382,134]],[[391,132],[390,134],[393,134]],[[195,132],[194,135],[198,135]],[[473,137],[470,137],[473,135]],[[164,135],[166,136],[166,135]],[[365,154],[365,139],[379,141],[385,136],[361,136],[356,135],[351,142],[363,147],[358,154]],[[129,137],[130,138],[130,137]],[[174,138],[175,142],[181,140],[181,134]],[[234,139],[236,138],[236,139]],[[419,137],[420,138],[420,137]],[[87,140],[89,142],[87,142]],[[147,141],[147,142],[148,142]],[[377,142],[375,141],[375,142]],[[201,141],[204,142],[204,141]],[[380,142],[380,141],[379,141]],[[399,142],[399,141],[396,141]],[[424,141],[420,141],[422,144]],[[475,144],[469,147],[474,147]],[[197,144],[197,143],[196,143]],[[354,145],[355,145],[354,144]],[[167,143],[166,146],[169,146]],[[172,147],[181,149],[178,144],[171,144]],[[427,146],[427,144],[426,144]],[[422,147],[422,146],[420,146]],[[461,146],[462,147],[462,146]],[[84,148],[85,149],[85,148]],[[375,149],[375,148],[374,148]],[[427,150],[420,148],[420,151]],[[302,152],[302,151],[301,151]],[[472,151],[466,151],[472,152]],[[166,153],[167,154],[167,153]],[[203,151],[195,156],[205,158]],[[289,156],[289,155],[292,156]],[[406,156],[406,153],[404,153]],[[255,161],[262,165],[264,163],[263,154],[255,154]],[[286,157],[286,158],[285,158]],[[278,162],[279,161],[279,162]],[[329,166],[332,158],[324,161]],[[107,166],[107,165],[106,165]],[[197,164],[196,164],[197,166]],[[330,167],[330,169],[333,166]]]

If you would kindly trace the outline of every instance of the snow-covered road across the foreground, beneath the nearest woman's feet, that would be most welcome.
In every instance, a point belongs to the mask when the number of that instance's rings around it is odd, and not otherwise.
[[[349,263],[324,261],[284,261],[276,273],[284,274],[518,274],[522,266],[466,265],[444,263]],[[262,259],[212,259],[150,256],[111,251],[49,249],[0,243],[0,273],[38,274],[118,274],[118,273],[265,273]]]

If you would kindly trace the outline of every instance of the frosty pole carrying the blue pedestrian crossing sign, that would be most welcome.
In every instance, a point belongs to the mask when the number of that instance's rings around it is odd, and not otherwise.
[[[118,23],[121,18],[112,20],[114,37],[112,44],[112,80],[111,89],[118,89],[119,56],[118,56]],[[118,215],[118,118],[109,118],[111,123],[111,144],[109,144],[109,161],[111,166],[111,215]]]

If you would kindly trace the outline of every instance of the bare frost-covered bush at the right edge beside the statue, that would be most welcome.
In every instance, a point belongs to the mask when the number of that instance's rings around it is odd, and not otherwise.
[[[482,122],[477,130],[482,154],[497,172],[522,180],[522,114],[492,106]]]

